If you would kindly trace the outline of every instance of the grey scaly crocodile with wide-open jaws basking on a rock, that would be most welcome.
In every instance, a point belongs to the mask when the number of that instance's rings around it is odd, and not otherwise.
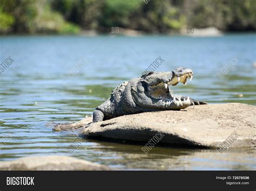
[[[170,72],[147,72],[119,84],[112,90],[111,97],[93,112],[92,123],[116,118],[121,115],[142,112],[181,110],[191,105],[207,104],[184,95],[174,95],[169,86],[187,84],[193,71],[178,67]],[[91,125],[91,124],[90,124]]]

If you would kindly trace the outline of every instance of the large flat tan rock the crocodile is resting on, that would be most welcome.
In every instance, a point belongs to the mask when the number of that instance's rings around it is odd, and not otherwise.
[[[82,128],[80,135],[90,139],[146,143],[158,134],[161,139],[157,144],[254,147],[255,114],[256,106],[239,103],[190,106],[181,111],[145,112],[97,122]],[[85,126],[85,122],[88,121],[79,121],[77,126]],[[71,126],[76,125],[65,125],[61,129]]]

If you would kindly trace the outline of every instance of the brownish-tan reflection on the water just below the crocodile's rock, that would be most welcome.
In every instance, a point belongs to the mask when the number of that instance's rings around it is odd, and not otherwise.
[[[100,142],[99,151],[110,153],[98,157],[100,163],[127,169],[157,170],[250,170],[255,169],[255,151],[251,148],[230,149],[221,154],[217,150],[154,147],[150,154],[140,145]],[[94,148],[92,148],[94,150]],[[84,158],[83,156],[81,157]],[[118,164],[118,166],[116,166]]]

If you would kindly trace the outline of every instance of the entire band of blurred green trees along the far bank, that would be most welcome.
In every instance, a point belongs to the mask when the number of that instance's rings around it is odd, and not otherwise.
[[[109,32],[112,26],[150,33],[186,26],[255,30],[255,0],[1,0],[0,33]]]

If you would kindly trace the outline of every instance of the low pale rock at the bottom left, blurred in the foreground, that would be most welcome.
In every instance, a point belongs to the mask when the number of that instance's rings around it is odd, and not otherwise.
[[[29,156],[0,162],[0,170],[110,170],[86,160],[69,156]]]

